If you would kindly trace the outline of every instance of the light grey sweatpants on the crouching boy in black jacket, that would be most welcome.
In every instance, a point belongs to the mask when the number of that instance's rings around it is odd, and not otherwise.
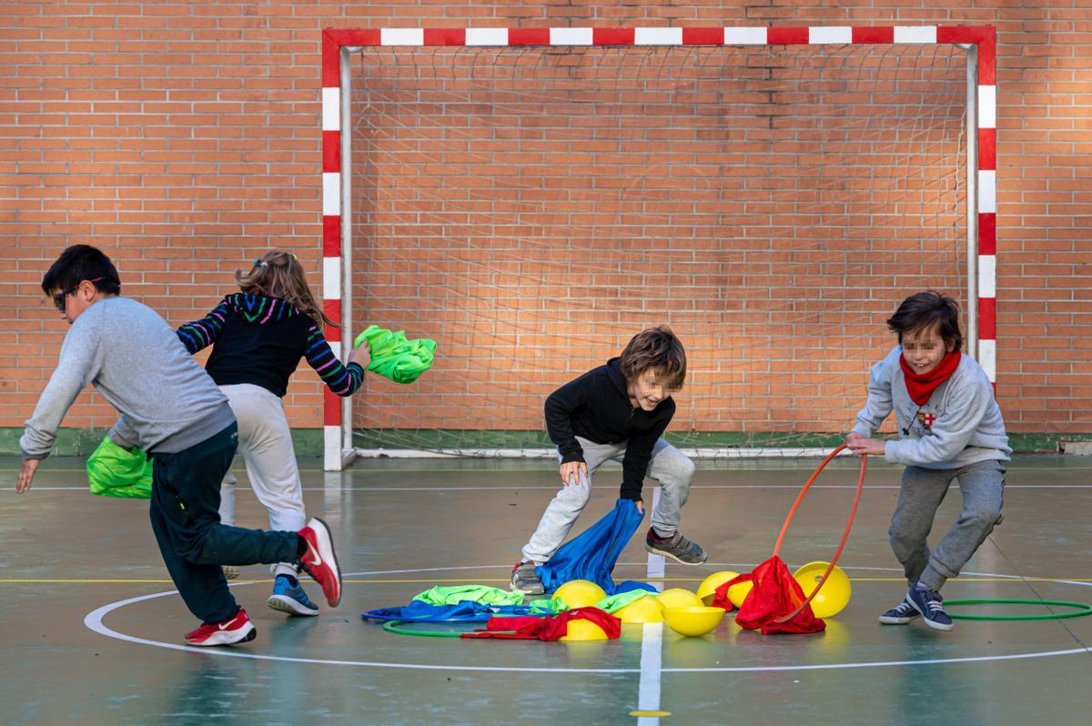
[[[562,486],[546,507],[546,511],[538,522],[538,527],[531,535],[531,540],[523,547],[524,561],[541,563],[554,556],[554,552],[565,541],[577,517],[587,505],[587,500],[592,496],[591,479],[595,476],[595,469],[607,460],[620,462],[626,455],[625,441],[621,443],[592,443],[580,437],[577,437],[577,441],[584,450],[587,478],[581,476],[579,483]],[[660,501],[652,512],[652,526],[660,536],[670,537],[678,529],[679,510],[690,495],[693,462],[687,459],[681,451],[660,439],[652,448],[649,476],[660,481],[661,486]]]

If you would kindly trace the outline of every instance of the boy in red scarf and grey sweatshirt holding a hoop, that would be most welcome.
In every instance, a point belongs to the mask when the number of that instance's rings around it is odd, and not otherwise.
[[[899,345],[873,366],[868,401],[845,438],[855,454],[906,465],[888,534],[910,591],[879,620],[904,624],[921,615],[930,628],[951,630],[940,587],[1001,521],[1002,462],[1012,449],[986,372],[960,353],[953,299],[933,290],[912,295],[888,328]],[[870,438],[892,410],[899,439]],[[959,479],[963,511],[930,552],[933,517],[952,479]]]

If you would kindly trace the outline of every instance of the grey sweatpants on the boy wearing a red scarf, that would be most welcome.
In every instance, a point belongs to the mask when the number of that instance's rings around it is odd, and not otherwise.
[[[927,539],[933,519],[956,478],[963,493],[963,511],[940,546],[930,552]],[[1000,523],[1004,491],[1005,465],[999,461],[976,462],[962,468],[907,466],[888,534],[910,584],[921,582],[939,591],[949,578],[957,576]]]

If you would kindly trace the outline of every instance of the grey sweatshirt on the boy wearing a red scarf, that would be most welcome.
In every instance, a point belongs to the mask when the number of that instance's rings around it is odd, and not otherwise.
[[[994,388],[973,358],[961,356],[951,378],[918,406],[906,391],[901,356],[902,346],[895,346],[873,366],[868,401],[857,414],[853,432],[873,436],[893,408],[899,440],[883,447],[883,457],[893,464],[960,468],[975,462],[1009,460],[1012,449]]]

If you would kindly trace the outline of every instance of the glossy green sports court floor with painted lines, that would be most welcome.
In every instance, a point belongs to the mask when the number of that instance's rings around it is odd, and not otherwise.
[[[182,645],[182,633],[198,623],[173,593],[146,502],[88,495],[79,459],[48,460],[34,489],[16,496],[17,464],[0,459],[4,724],[1090,723],[1092,617],[960,620],[949,633],[921,622],[877,623],[903,594],[887,544],[899,467],[870,462],[840,561],[853,597],[824,633],[762,636],[740,631],[728,616],[704,638],[664,629],[657,641],[655,632],[644,639],[640,626],[627,626],[617,641],[539,643],[397,635],[363,622],[359,612],[405,605],[434,584],[507,583],[553,496],[554,466],[369,460],[324,474],[318,461],[305,460],[309,513],[334,529],[346,573],[341,606],[288,619],[264,605],[268,570],[245,568],[234,590],[257,640],[202,651]],[[710,561],[668,564],[665,586],[696,588],[713,571],[746,571],[769,557],[816,464],[699,465],[682,531]],[[856,466],[836,460],[812,488],[783,547],[791,569],[829,559]],[[239,474],[240,524],[263,526]],[[946,597],[1092,603],[1090,475],[1092,459],[1013,461],[1005,522]],[[574,533],[613,505],[620,469],[597,478]],[[953,490],[934,538],[959,499]],[[661,566],[656,559],[634,538],[616,580],[648,578]],[[305,584],[318,599],[318,587]],[[992,608],[975,612],[1002,612]]]

